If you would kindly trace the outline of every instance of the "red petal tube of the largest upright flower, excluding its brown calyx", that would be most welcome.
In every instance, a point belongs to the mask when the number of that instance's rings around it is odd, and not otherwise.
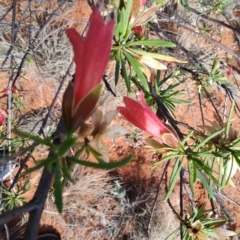
[[[99,11],[94,9],[85,39],[75,29],[67,29],[76,64],[74,108],[101,82],[111,50],[113,27],[114,21],[105,24]]]

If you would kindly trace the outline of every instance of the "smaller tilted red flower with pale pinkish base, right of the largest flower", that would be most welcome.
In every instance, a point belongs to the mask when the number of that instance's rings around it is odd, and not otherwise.
[[[129,122],[169,146],[178,146],[179,140],[176,133],[170,126],[161,122],[149,108],[142,92],[140,92],[141,103],[129,97],[124,97],[123,101],[126,107],[118,107],[117,109]]]

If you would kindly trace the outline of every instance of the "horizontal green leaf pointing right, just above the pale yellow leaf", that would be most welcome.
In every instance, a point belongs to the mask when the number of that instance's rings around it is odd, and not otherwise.
[[[139,40],[139,41],[133,41],[133,42],[128,42],[124,44],[124,47],[130,47],[130,46],[154,46],[154,47],[173,48],[173,47],[176,47],[176,44],[169,41],[160,40],[160,39]]]

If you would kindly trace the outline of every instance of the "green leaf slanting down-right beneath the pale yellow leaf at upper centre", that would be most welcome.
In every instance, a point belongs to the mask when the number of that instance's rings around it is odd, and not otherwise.
[[[130,65],[132,66],[134,71],[136,72],[138,78],[140,79],[140,81],[142,83],[144,90],[146,92],[149,92],[149,86],[148,86],[147,79],[141,70],[141,68],[143,68],[144,66],[141,63],[139,63],[138,61],[136,61],[128,52],[124,51],[124,55],[126,56],[128,62],[130,63]]]

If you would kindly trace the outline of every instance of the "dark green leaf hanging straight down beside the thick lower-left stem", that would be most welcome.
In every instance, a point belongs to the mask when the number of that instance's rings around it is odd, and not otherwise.
[[[57,209],[61,213],[63,203],[62,203],[61,168],[60,168],[59,162],[56,162],[56,168],[55,168],[54,197],[55,197],[55,204],[57,206]]]

